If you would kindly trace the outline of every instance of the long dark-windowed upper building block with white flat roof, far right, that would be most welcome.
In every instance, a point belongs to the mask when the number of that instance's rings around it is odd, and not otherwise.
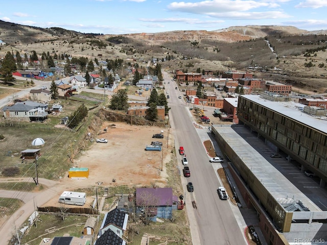
[[[327,181],[327,117],[305,113],[310,107],[292,102],[272,102],[259,95],[239,97],[238,118],[266,140],[320,178]],[[319,108],[320,110],[322,108]],[[319,111],[320,111],[319,110]],[[291,159],[290,158],[290,159]]]

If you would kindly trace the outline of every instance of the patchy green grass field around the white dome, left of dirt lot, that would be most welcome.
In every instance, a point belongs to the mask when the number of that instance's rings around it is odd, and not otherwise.
[[[40,149],[41,156],[38,158],[38,176],[47,179],[57,179],[68,170],[71,162],[67,155],[74,158],[78,151],[87,148],[85,141],[87,127],[96,112],[89,111],[88,117],[82,122],[81,128],[69,130],[67,128],[56,128],[60,118],[71,114],[81,102],[62,100],[63,113],[59,116],[49,115],[44,123],[19,122],[15,127],[0,127],[0,134],[5,136],[2,140],[3,157],[0,158],[0,169],[8,166],[18,166],[22,177],[35,176],[35,159],[20,159],[20,152],[26,149]],[[94,107],[93,102],[84,103],[86,107]],[[0,124],[0,126],[3,126]],[[35,138],[44,139],[41,146],[32,146]]]

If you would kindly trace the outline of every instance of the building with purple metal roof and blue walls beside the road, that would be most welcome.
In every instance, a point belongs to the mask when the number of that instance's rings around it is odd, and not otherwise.
[[[173,195],[171,187],[136,188],[135,198],[136,213],[144,213],[144,209],[149,208],[148,215],[154,222],[156,218],[171,218],[173,210],[177,209],[178,205],[178,197]]]

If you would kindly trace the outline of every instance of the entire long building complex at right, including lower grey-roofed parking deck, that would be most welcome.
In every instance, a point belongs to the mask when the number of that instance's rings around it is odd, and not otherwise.
[[[268,244],[327,242],[327,120],[306,114],[304,107],[241,95],[237,114],[243,125],[212,126],[244,201],[258,213]],[[259,153],[249,144],[255,139],[283,158]],[[283,163],[284,170],[274,162]],[[303,174],[308,169],[319,184]]]

